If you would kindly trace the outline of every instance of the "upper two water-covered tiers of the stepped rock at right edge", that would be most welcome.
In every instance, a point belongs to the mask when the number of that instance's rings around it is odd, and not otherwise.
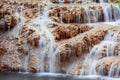
[[[92,48],[90,57],[94,57],[95,59],[102,59],[104,57],[120,55],[120,31],[117,29],[119,28],[108,31],[104,40]]]

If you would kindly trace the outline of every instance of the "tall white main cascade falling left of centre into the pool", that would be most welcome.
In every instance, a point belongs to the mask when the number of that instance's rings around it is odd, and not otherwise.
[[[40,9],[38,7],[38,11],[39,10]],[[55,72],[55,60],[56,60],[55,56],[58,53],[54,37],[48,29],[49,22],[51,21],[48,18],[48,13],[49,13],[48,8],[44,8],[43,15],[38,16],[36,19],[32,21],[33,24],[35,24],[38,27],[38,29],[36,30],[40,31],[41,37],[39,40],[40,72],[46,71]],[[47,66],[49,67],[49,69]]]

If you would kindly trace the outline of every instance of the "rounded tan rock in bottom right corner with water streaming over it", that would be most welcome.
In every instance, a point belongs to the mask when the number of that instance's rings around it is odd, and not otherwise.
[[[120,57],[106,57],[99,60],[95,66],[98,75],[120,78]]]

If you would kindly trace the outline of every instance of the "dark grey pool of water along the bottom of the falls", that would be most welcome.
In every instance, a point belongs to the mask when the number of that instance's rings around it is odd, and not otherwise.
[[[71,76],[58,73],[0,73],[0,80],[120,80],[101,76]]]

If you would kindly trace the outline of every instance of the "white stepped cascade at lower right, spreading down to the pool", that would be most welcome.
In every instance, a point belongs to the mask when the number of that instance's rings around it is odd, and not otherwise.
[[[105,36],[104,40],[95,45],[86,60],[83,63],[82,69],[80,71],[80,75],[104,75],[104,64],[99,66],[99,69],[96,71],[96,66],[100,59],[119,56],[115,54],[116,46],[119,45],[118,35],[120,32],[112,32],[108,31],[108,34]],[[92,65],[90,64],[92,63]],[[117,65],[117,66],[116,66]],[[88,70],[88,72],[86,72]],[[113,63],[109,69],[108,76],[109,77],[119,77],[120,67],[118,63]]]

